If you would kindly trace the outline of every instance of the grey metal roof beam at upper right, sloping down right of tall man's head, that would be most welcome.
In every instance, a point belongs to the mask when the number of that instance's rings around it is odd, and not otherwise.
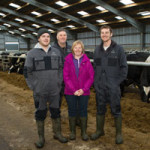
[[[105,3],[102,0],[90,0],[90,1],[97,4],[97,5],[104,7],[105,9],[116,14],[117,16],[118,15],[121,16],[122,18],[127,20],[132,26],[137,28],[139,31],[144,32],[144,24],[142,24],[141,22],[139,22],[139,21],[135,20],[134,18],[126,15],[125,13],[121,12],[120,10],[117,10],[116,8],[112,7],[111,5]]]

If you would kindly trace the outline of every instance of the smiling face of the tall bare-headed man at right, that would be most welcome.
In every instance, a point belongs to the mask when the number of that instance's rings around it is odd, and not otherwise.
[[[103,28],[101,30],[100,36],[103,42],[109,42],[111,41],[112,33],[110,32],[109,29]]]

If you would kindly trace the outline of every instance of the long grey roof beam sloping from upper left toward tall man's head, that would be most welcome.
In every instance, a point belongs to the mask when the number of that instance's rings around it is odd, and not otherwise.
[[[74,17],[74,16],[72,16],[72,15],[69,15],[69,14],[67,14],[67,13],[64,13],[64,12],[62,12],[62,11],[60,11],[60,10],[54,9],[54,8],[52,8],[52,7],[50,7],[50,6],[44,5],[43,3],[39,3],[39,2],[37,2],[37,1],[35,1],[35,0],[21,0],[21,1],[26,2],[26,3],[29,3],[29,4],[31,4],[31,5],[33,5],[33,6],[36,6],[36,7],[38,7],[39,9],[43,9],[43,10],[50,11],[50,12],[52,12],[52,13],[54,13],[54,14],[57,14],[58,16],[61,16],[61,17],[63,17],[63,18],[71,19],[72,21],[74,21],[74,22],[76,22],[76,23],[78,23],[78,24],[87,26],[87,27],[88,27],[89,29],[91,29],[92,31],[99,32],[99,29],[98,29],[97,26],[95,26],[95,25],[93,25],[93,24],[91,24],[91,23],[88,23],[88,22],[86,22],[86,21],[84,21],[84,20],[82,20],[82,19],[79,19],[79,18],[77,18],[77,17]]]

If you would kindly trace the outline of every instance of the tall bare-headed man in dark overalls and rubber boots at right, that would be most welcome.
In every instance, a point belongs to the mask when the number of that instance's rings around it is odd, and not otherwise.
[[[96,47],[94,52],[97,130],[92,134],[91,140],[96,140],[104,135],[106,105],[110,104],[111,113],[115,119],[116,144],[122,144],[120,83],[126,79],[128,66],[124,49],[111,40],[112,34],[110,26],[102,26],[100,28],[102,43]]]

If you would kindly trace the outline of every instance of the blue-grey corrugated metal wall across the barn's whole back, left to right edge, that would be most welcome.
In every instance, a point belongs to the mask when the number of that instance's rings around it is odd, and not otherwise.
[[[77,39],[82,40],[85,45],[85,49],[90,51],[94,51],[95,47],[101,42],[99,33],[95,32],[78,33]],[[114,29],[113,40],[118,44],[123,45],[125,50],[141,50],[141,33],[134,27]],[[20,50],[27,50],[28,48],[25,40],[18,40],[15,37],[0,34],[0,51],[5,50],[5,42],[11,41],[18,41]],[[70,45],[73,41],[74,40],[72,39],[68,39],[68,43]],[[37,41],[31,40],[30,48],[33,48],[36,42]],[[145,49],[150,50],[150,25],[147,25],[145,29]]]

